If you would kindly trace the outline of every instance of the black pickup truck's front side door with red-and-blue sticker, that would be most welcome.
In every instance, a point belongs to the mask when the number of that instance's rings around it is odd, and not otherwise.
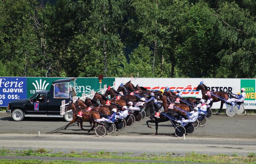
[[[33,100],[33,102],[32,102]],[[46,115],[47,114],[47,97],[46,94],[35,95],[25,103],[25,114],[26,115]]]

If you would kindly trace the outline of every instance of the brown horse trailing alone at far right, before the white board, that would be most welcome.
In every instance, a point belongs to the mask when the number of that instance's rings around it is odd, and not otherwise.
[[[196,90],[199,91],[201,90],[202,93],[202,99],[208,100],[208,97],[206,94],[206,92],[208,91],[207,86],[205,84],[203,84],[202,82],[196,87]],[[229,94],[227,92],[211,92],[214,95],[217,95],[221,98],[223,98],[224,100],[228,100],[229,98]],[[212,95],[213,98],[213,102],[218,102],[220,101],[220,108],[218,110],[218,112],[216,113],[216,115],[218,115],[218,113],[220,112],[220,110],[223,108],[223,104],[225,103],[224,100],[219,99],[218,97]]]

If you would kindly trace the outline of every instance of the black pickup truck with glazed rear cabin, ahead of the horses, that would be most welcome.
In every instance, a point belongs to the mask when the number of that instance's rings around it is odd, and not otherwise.
[[[60,115],[60,106],[63,100],[68,103],[76,96],[72,87],[75,86],[75,80],[76,78],[56,80],[52,82],[49,91],[38,91],[29,99],[10,101],[6,112],[12,114],[14,121],[22,121],[24,117],[63,117]],[[65,113],[64,119],[71,121],[72,111]]]

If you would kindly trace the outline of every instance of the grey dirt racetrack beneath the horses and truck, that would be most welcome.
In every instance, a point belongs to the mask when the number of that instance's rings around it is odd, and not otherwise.
[[[114,134],[97,137],[87,134],[76,124],[63,130],[68,123],[61,118],[25,118],[12,121],[10,114],[0,113],[0,145],[11,149],[48,148],[54,151],[125,151],[135,154],[163,152],[199,152],[207,154],[247,154],[256,152],[256,115],[213,116],[205,127],[198,127],[185,140],[171,136],[170,122],[159,123],[159,135],[153,136],[155,126],[147,128],[145,118]],[[89,123],[85,123],[89,128]],[[41,137],[38,137],[40,131]],[[157,144],[155,144],[157,143]],[[86,145],[86,146],[85,146]],[[153,149],[152,149],[153,148]]]

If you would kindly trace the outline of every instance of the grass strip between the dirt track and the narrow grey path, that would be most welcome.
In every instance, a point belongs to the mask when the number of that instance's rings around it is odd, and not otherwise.
[[[51,157],[80,157],[80,158],[105,158],[105,159],[138,159],[138,160],[159,160],[159,161],[177,161],[177,162],[205,162],[205,163],[237,163],[237,164],[256,164],[255,153],[248,153],[247,156],[239,156],[236,153],[231,156],[226,154],[218,155],[206,155],[198,154],[195,152],[186,153],[184,156],[180,156],[176,153],[162,153],[162,155],[157,154],[146,154],[135,156],[132,152],[95,152],[89,153],[87,151],[77,153],[75,151],[70,151],[64,154],[63,152],[53,153],[51,150],[46,150],[44,148],[37,150],[14,150],[3,148],[0,149],[0,155],[5,156],[51,156]]]

